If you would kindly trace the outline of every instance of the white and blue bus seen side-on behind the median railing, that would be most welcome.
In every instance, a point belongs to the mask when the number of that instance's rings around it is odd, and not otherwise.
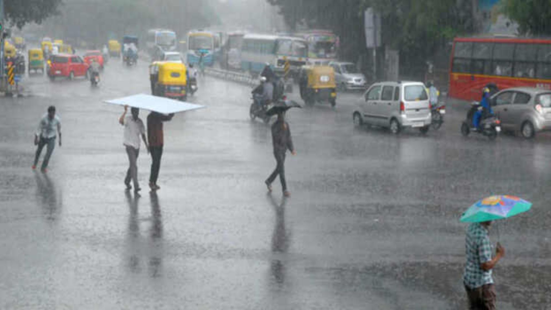
[[[308,45],[302,38],[277,35],[246,34],[241,47],[241,70],[262,72],[266,63],[275,71],[283,71],[289,61],[291,73],[306,65]]]

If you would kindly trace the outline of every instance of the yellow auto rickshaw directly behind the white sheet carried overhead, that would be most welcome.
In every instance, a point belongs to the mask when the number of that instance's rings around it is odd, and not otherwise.
[[[183,63],[156,61],[149,66],[153,95],[187,99],[187,68]]]

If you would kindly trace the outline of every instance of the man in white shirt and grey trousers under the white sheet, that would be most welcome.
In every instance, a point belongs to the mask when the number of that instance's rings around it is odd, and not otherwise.
[[[143,125],[143,121],[138,117],[139,109],[132,108],[130,110],[132,115],[130,116],[126,116],[127,111],[128,111],[128,106],[125,106],[125,111],[118,119],[119,124],[121,124],[122,126],[125,126],[125,132],[123,135],[123,145],[126,147],[126,153],[128,154],[128,162],[129,162],[129,167],[126,172],[125,185],[127,190],[132,189],[132,186],[130,186],[130,181],[132,180],[134,183],[134,193],[138,193],[138,191],[141,190],[138,183],[138,165],[137,165],[138,156],[139,156],[140,136],[142,136],[143,144],[145,145],[145,149],[147,149],[148,153],[149,153],[149,146],[147,145],[147,141],[145,140],[145,126]]]

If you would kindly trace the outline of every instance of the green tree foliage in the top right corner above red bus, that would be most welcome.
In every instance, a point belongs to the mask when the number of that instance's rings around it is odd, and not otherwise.
[[[521,34],[551,35],[549,0],[503,0],[503,12],[518,23]]]

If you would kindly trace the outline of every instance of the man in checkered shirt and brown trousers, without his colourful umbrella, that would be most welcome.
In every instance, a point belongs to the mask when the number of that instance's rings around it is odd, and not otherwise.
[[[499,244],[495,257],[492,258],[492,247],[488,231],[491,221],[471,223],[467,227],[465,253],[467,263],[463,274],[463,284],[467,291],[469,309],[495,309],[494,280],[491,269],[505,256],[505,249]]]

